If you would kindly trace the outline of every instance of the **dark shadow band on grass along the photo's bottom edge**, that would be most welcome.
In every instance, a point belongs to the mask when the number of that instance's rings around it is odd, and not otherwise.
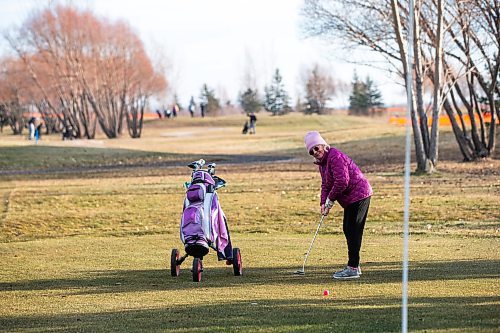
[[[399,298],[333,297],[231,301],[154,309],[0,317],[7,331],[43,332],[397,332]],[[494,297],[419,297],[408,308],[410,330],[495,330]]]

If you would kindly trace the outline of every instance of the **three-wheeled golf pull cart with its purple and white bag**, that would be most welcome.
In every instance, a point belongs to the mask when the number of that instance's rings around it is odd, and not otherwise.
[[[186,182],[186,198],[181,217],[180,236],[186,254],[180,255],[178,249],[172,249],[170,256],[170,274],[177,277],[180,266],[188,256],[192,256],[191,272],[193,281],[200,282],[203,272],[203,257],[210,248],[217,252],[219,261],[225,260],[233,266],[235,276],[243,274],[241,253],[233,248],[227,221],[219,203],[217,190],[226,185],[226,181],[215,175],[215,163],[203,169],[203,159],[188,164],[192,169],[191,181]]]

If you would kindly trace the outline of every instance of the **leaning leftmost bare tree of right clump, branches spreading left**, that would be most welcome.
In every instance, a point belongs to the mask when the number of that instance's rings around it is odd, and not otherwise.
[[[306,0],[303,7],[304,30],[310,36],[326,39],[340,39],[348,47],[364,47],[381,54],[392,70],[398,72],[402,79],[406,77],[407,49],[403,33],[404,24],[398,1],[377,0],[365,2],[361,0],[324,1]],[[418,22],[415,20],[415,22]],[[418,25],[415,27],[418,34]],[[418,40],[416,38],[416,40]],[[419,52],[419,48],[415,48]],[[417,55],[415,58],[420,58]],[[417,72],[419,70],[417,69]],[[417,110],[423,110],[423,91],[421,86],[411,94],[411,120],[415,143],[417,170],[430,172],[432,166],[428,158],[428,150],[424,148],[422,129]],[[419,90],[420,89],[420,90]],[[417,96],[415,96],[417,94]],[[419,96],[420,94],[420,96]],[[423,112],[423,111],[421,111]]]

